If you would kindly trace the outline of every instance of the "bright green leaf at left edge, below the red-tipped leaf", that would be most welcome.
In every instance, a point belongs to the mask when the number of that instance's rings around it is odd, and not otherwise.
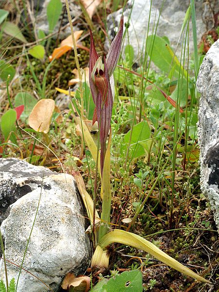
[[[15,144],[17,144],[16,137],[15,134],[14,133],[11,134],[11,132],[16,130],[15,128],[16,118],[17,118],[16,110],[10,109],[2,115],[0,123],[1,131],[5,141],[8,139],[10,135],[10,140]]]

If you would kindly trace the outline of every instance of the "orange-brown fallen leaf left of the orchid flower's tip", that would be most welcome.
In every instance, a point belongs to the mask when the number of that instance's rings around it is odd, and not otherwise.
[[[80,38],[80,36],[82,35],[82,33],[83,33],[83,30],[74,32],[74,39],[76,42],[76,47],[84,49],[86,51],[89,51],[89,49],[87,47],[84,47],[83,45],[81,45],[80,43],[77,42],[78,39]],[[51,56],[49,56],[50,61],[52,61],[53,59],[60,58],[65,53],[72,50],[73,47],[74,46],[73,46],[72,35],[70,35],[70,36],[66,37],[65,39],[63,39],[63,41],[60,44],[60,47],[54,49],[53,54]]]

